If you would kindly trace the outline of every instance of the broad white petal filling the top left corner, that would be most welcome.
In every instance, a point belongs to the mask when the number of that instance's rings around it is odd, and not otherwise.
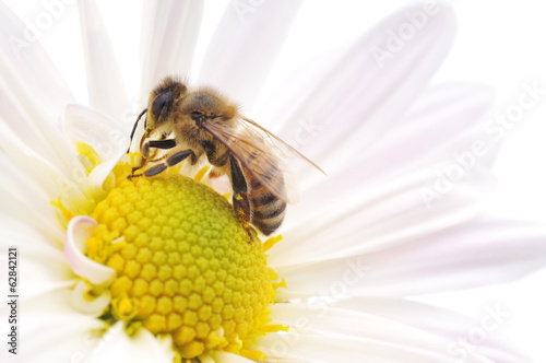
[[[31,27],[0,3],[0,116],[27,145],[50,162],[70,164],[70,145],[56,121],[73,97]],[[9,105],[9,106],[8,106]],[[22,130],[26,130],[25,137]],[[68,166],[69,167],[69,166]]]

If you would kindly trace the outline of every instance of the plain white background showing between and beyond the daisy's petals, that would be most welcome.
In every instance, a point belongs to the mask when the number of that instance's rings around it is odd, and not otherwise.
[[[31,0],[24,4],[16,0],[7,2],[27,21],[46,11],[41,1]],[[356,39],[383,16],[407,3],[403,0],[308,1],[296,20],[271,80],[305,59]],[[498,92],[498,102],[491,112],[502,112],[503,107],[513,103],[521,93],[523,82],[538,81],[546,89],[546,12],[543,1],[453,0],[451,3],[458,15],[458,36],[434,83],[472,81],[489,84]],[[115,31],[112,42],[119,50],[128,89],[135,92],[141,2],[99,1],[99,5],[105,23]],[[214,31],[212,24],[221,16],[224,7],[225,3],[219,0],[207,2],[197,57],[204,51],[206,38]],[[79,36],[78,12],[71,4],[66,7],[50,28],[44,31],[40,42],[60,65],[74,94],[85,102],[85,71]],[[306,44],[304,49],[301,44]],[[266,102],[264,94],[259,98],[262,102]],[[496,165],[500,179],[499,198],[492,203],[498,211],[546,222],[544,103],[526,113],[522,121],[507,133]],[[546,362],[545,291],[546,270],[543,270],[515,283],[427,296],[427,300],[462,311],[476,319],[485,314],[487,304],[506,306],[510,317],[502,323],[499,331],[519,344],[535,362]]]

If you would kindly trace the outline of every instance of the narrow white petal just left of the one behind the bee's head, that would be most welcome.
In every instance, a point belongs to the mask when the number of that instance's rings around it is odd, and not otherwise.
[[[78,9],[91,105],[121,119],[131,105],[100,13],[95,1],[80,0]]]

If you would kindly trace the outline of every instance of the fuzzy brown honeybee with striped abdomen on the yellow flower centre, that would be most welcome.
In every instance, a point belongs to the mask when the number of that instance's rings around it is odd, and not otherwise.
[[[150,93],[149,107],[138,117],[131,141],[144,114],[143,162],[129,178],[157,175],[187,159],[194,165],[206,157],[212,177],[228,176],[235,214],[251,241],[248,223],[270,235],[281,226],[286,203],[297,201],[297,188],[283,159],[297,157],[322,172],[210,87],[189,90],[176,78],[165,78]],[[149,164],[154,165],[144,169]],[[139,169],[144,171],[135,174]]]

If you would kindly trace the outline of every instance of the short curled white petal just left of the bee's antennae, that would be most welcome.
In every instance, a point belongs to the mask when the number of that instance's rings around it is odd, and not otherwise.
[[[63,126],[72,140],[85,142],[98,153],[103,163],[91,172],[88,183],[94,190],[102,190],[104,180],[127,152],[129,134],[108,116],[80,105],[67,106]]]

